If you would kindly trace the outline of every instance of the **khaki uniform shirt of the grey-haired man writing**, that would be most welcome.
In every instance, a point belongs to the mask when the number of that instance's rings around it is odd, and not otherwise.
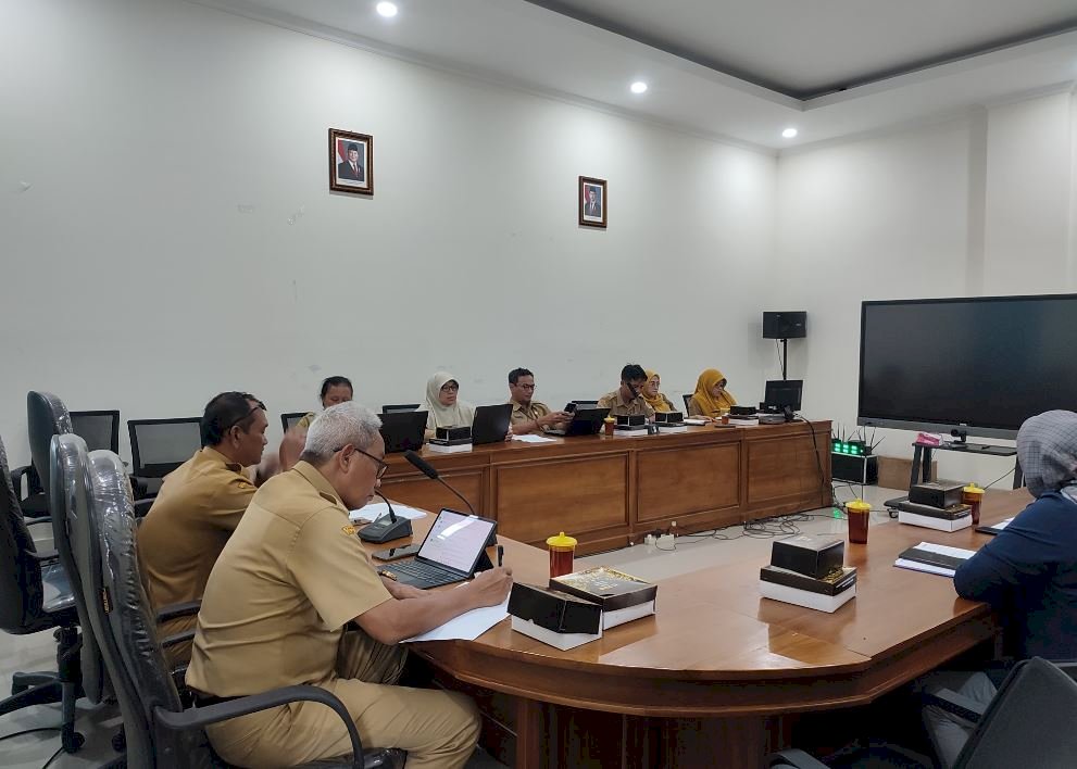
[[[326,682],[345,623],[390,598],[333,487],[300,462],[262,484],[217,559],[187,683],[236,696]]]

